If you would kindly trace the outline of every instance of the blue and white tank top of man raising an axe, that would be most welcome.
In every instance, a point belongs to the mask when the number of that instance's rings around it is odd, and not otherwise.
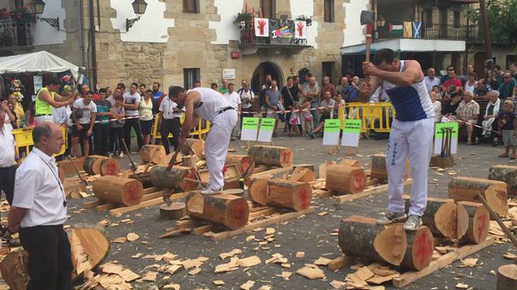
[[[400,60],[400,72],[404,70],[405,61]],[[383,90],[390,96],[391,103],[399,121],[418,121],[435,117],[433,103],[430,100],[423,79],[410,86],[397,86],[383,81]]]

